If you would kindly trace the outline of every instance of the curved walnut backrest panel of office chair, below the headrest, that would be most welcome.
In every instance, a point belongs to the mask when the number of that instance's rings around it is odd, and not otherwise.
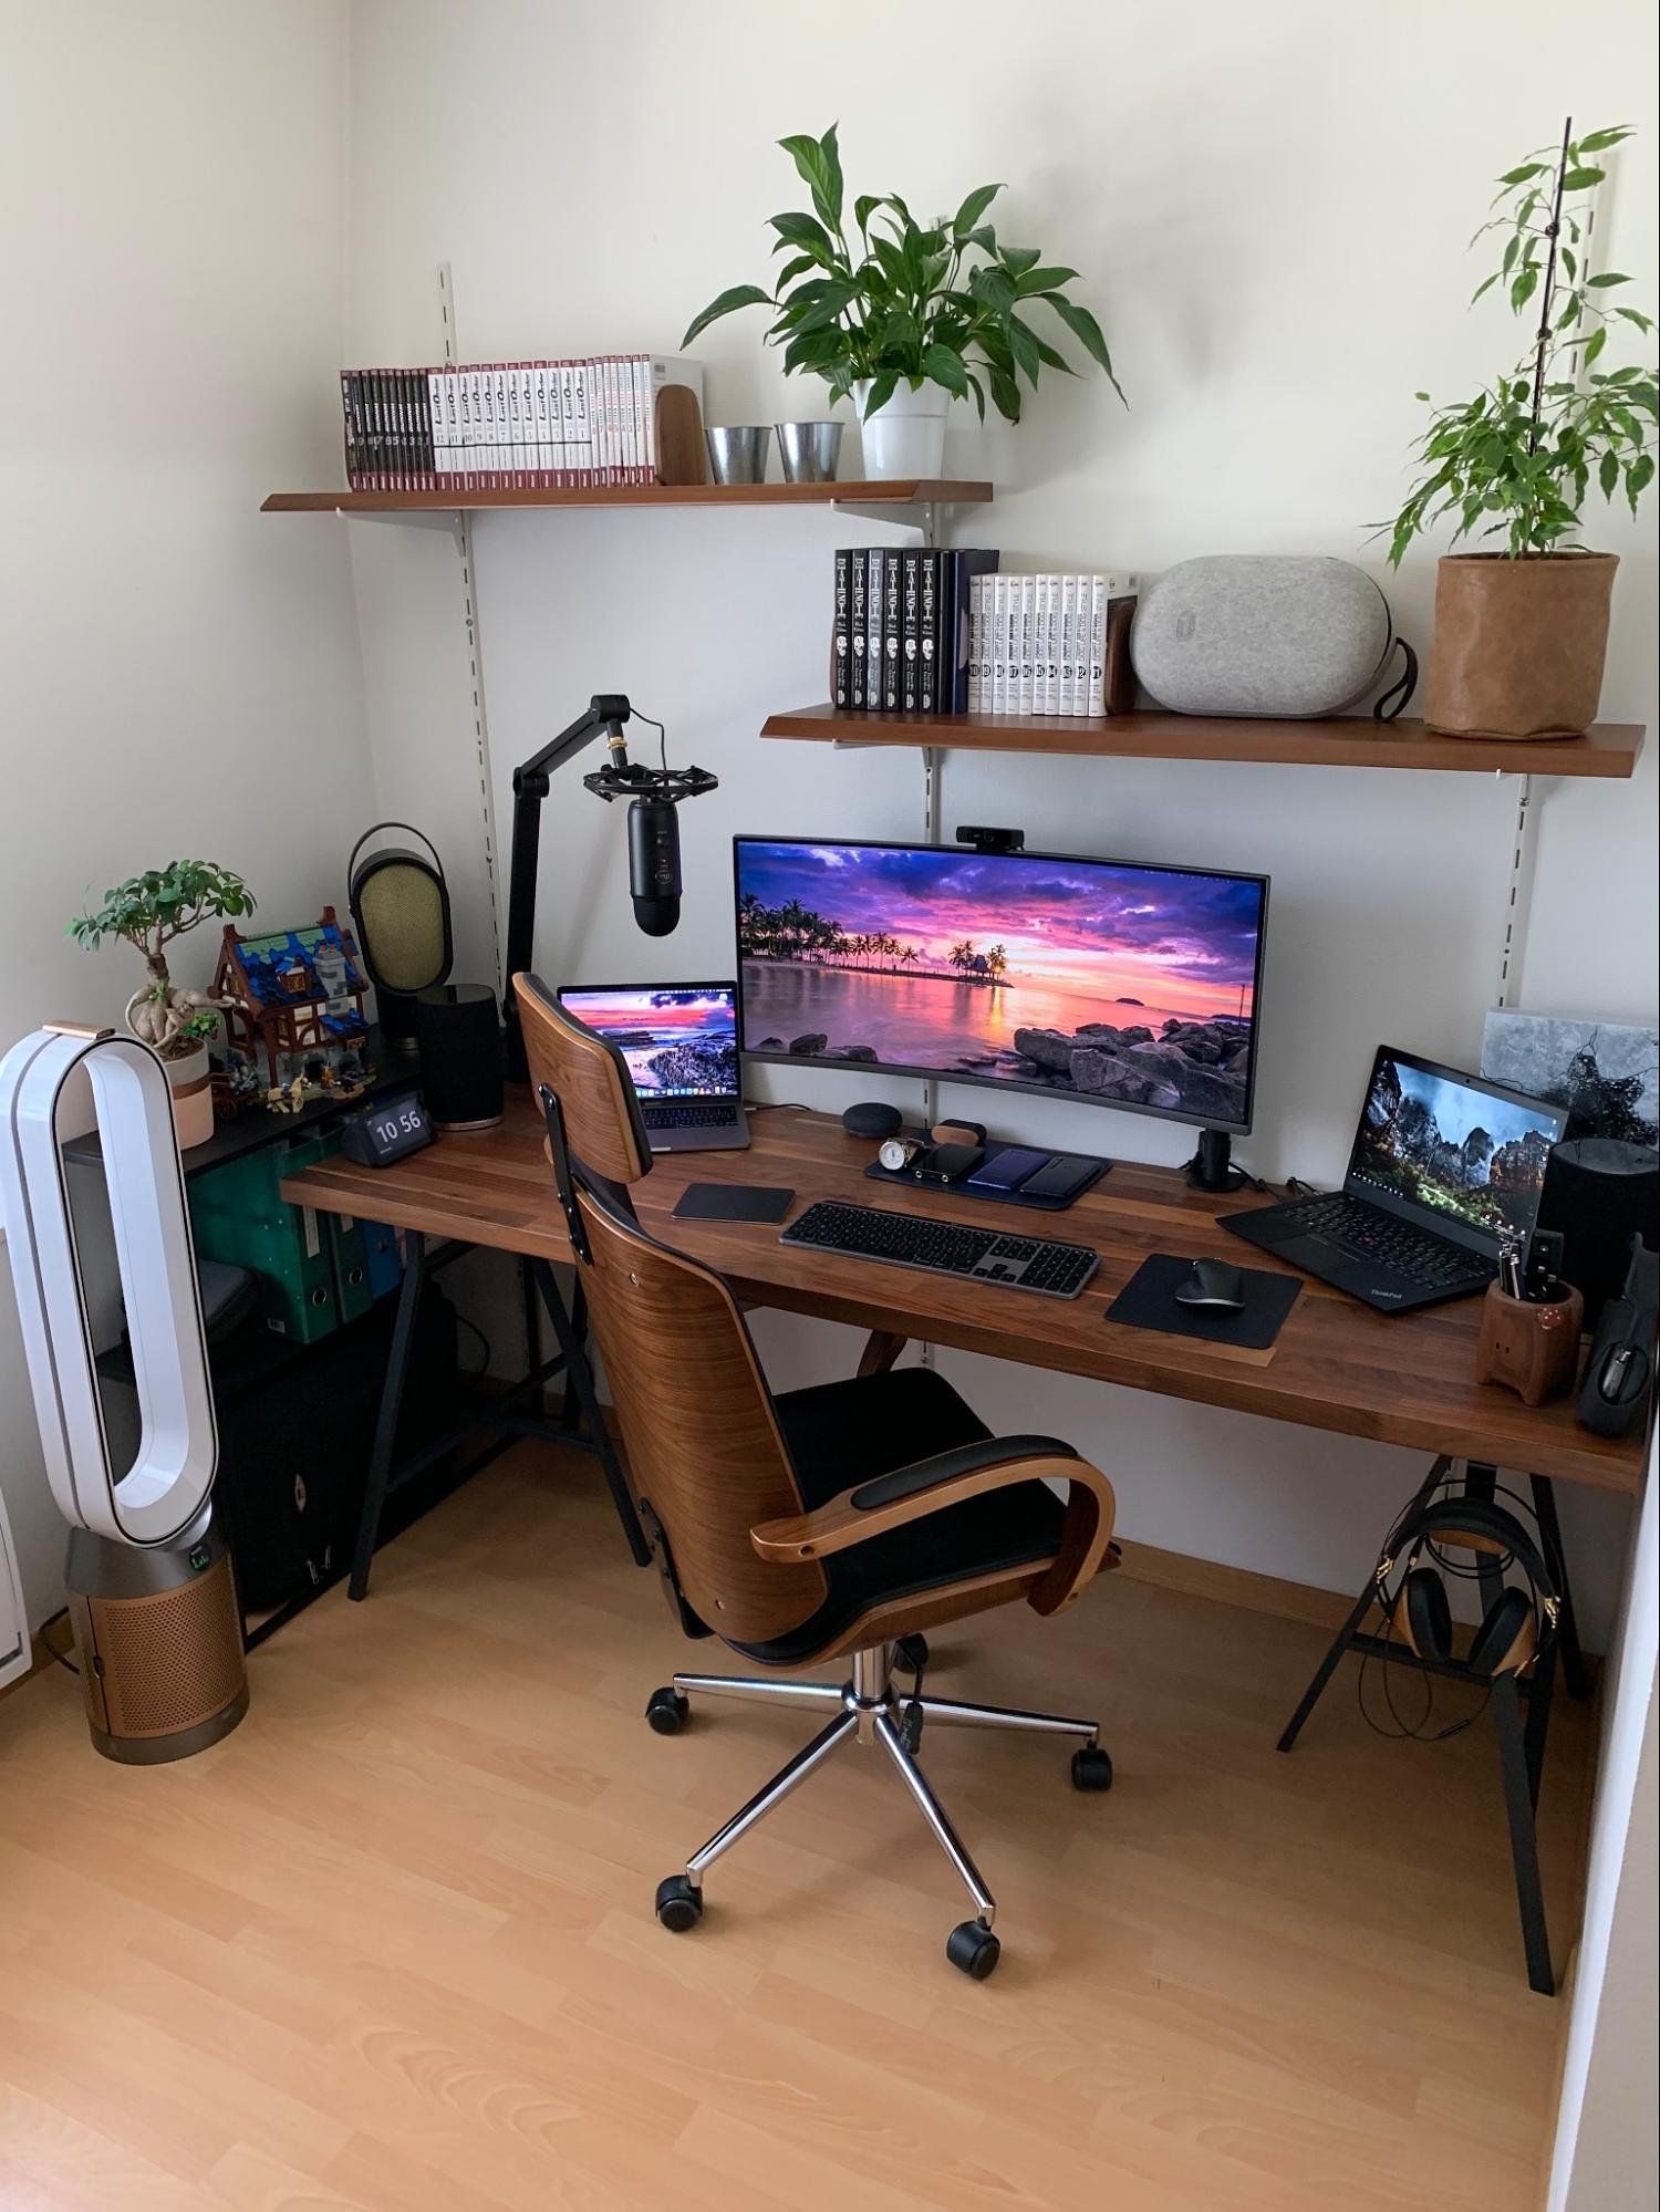
[[[764,1644],[817,1613],[817,1562],[775,1564],[757,1522],[806,1511],[744,1316],[713,1267],[655,1243],[551,1119],[553,1170],[618,1409],[629,1478],[668,1540],[693,1613],[733,1644]]]

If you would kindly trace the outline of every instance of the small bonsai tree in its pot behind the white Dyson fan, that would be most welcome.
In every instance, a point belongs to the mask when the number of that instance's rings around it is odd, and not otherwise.
[[[168,975],[164,947],[197,922],[252,914],[255,896],[241,876],[212,860],[170,860],[104,891],[104,905],[80,914],[69,936],[89,951],[104,938],[124,938],[144,956],[148,980],[128,998],[126,1026],[155,1046],[168,1071],[179,1150],[212,1137],[208,1037],[219,1026],[215,1000],[179,991]]]

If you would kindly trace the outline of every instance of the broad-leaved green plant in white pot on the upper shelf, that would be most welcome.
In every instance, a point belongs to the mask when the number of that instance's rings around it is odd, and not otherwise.
[[[1040,369],[1076,374],[1031,327],[1031,307],[1056,314],[1124,398],[1100,323],[1067,296],[1078,270],[1045,263],[1036,246],[1003,246],[983,221],[1000,184],[976,186],[954,217],[930,223],[919,223],[896,192],[861,192],[850,248],[837,126],[821,139],[799,135],[779,146],[815,212],[770,217],[772,252],[790,257],[772,290],[741,283],[722,292],[693,319],[682,345],[737,307],[770,307],[766,341],[784,347],[786,372],[823,376],[832,400],[852,394],[868,478],[938,476],[954,398],[972,394],[985,420],[989,392],[996,411],[1018,422],[1023,376],[1036,387]]]

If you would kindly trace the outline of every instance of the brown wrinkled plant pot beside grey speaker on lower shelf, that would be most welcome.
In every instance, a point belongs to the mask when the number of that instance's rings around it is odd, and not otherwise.
[[[1602,697],[1618,553],[1448,553],[1423,719],[1443,737],[1583,737]]]

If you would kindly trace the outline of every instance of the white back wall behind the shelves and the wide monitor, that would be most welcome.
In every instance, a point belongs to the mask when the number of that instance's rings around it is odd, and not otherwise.
[[[1596,0],[1565,71],[1540,66],[1558,53],[1558,22],[1545,0],[1397,4],[1386,18],[1317,0],[1045,0],[1018,18],[998,0],[958,0],[947,15],[850,0],[834,27],[799,0],[502,0],[485,15],[359,0],[350,354],[429,358],[445,259],[474,358],[673,349],[719,288],[764,274],[764,219],[799,204],[772,139],[839,117],[850,192],[894,188],[934,208],[1009,179],[1000,232],[1085,272],[1131,398],[1122,414],[1104,380],[1060,380],[1014,431],[981,434],[972,414],[954,425],[947,469],[998,487],[989,511],[958,518],[961,542],[1000,544],[1027,566],[1140,571],[1295,549],[1386,577],[1368,522],[1401,498],[1414,387],[1452,394],[1521,352],[1498,310],[1463,312],[1479,274],[1465,239],[1494,173],[1552,137],[1565,97],[1587,128],[1642,126],[1609,195],[1605,252],[1633,272],[1653,265],[1653,24],[1627,0]],[[699,341],[710,420],[821,411],[821,387],[786,385],[759,341],[759,316]],[[722,776],[684,814],[686,918],[660,945],[629,918],[622,825],[575,776],[553,796],[538,933],[549,975],[730,969],[735,830],[921,827],[914,754],[757,741],[770,708],[823,695],[830,546],[872,531],[766,511],[478,522],[502,823],[513,761],[593,690],[631,692],[668,721],[677,759]],[[1653,518],[1633,529],[1598,509],[1594,540],[1625,560],[1605,712],[1653,721]],[[352,553],[365,657],[403,672],[396,719],[374,717],[378,770],[405,763],[407,803],[458,849],[478,807],[469,714],[456,710],[454,557],[440,540],[365,526]],[[1428,549],[1388,582],[1419,644],[1432,580]],[[947,827],[1016,821],[1034,847],[1273,874],[1248,1157],[1306,1177],[1341,1170],[1379,1037],[1474,1064],[1512,812],[1512,783],[1485,776],[961,754],[945,770]],[[1653,1018],[1653,745],[1629,787],[1543,785],[1527,1004]],[[487,971],[483,936],[463,956]],[[843,1102],[821,1075],[779,1082]],[[1173,1161],[1191,1141],[1045,1099],[1011,1102],[1000,1121],[1142,1159]],[[828,1329],[775,1318],[764,1340],[786,1380],[845,1360]],[[989,1420],[1058,1427],[1093,1449],[1131,1535],[1242,1566],[1357,1586],[1417,1480],[1410,1455],[1355,1440],[985,1360],[945,1365]],[[1563,1504],[1600,1635],[1627,1513],[1589,1493]]]

